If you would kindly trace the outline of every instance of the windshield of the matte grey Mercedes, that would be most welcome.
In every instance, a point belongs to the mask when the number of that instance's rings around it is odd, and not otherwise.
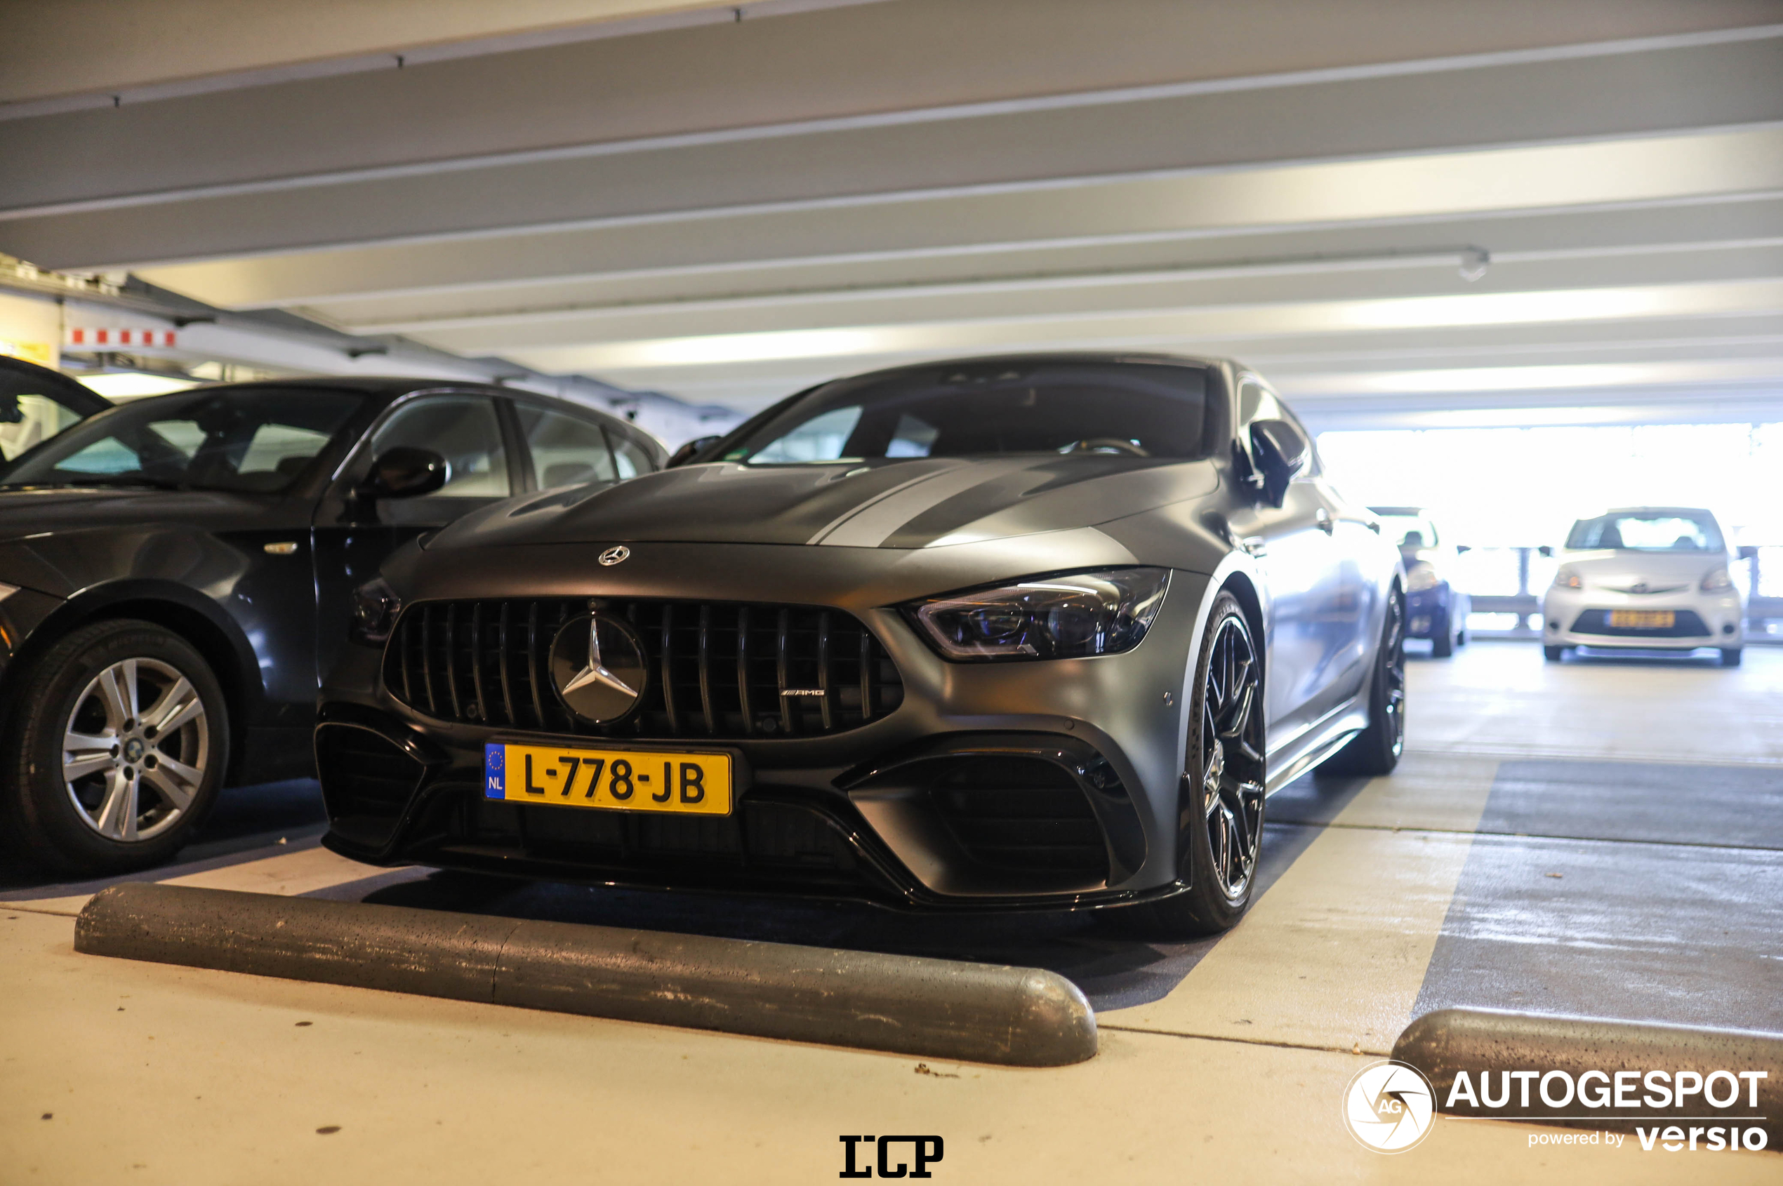
[[[726,449],[749,465],[997,453],[1204,453],[1207,371],[990,362],[826,383]]]

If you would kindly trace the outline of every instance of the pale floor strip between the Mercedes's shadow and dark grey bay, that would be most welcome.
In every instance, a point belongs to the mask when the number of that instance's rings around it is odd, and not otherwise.
[[[1373,779],[1175,992],[1105,1024],[1387,1054],[1412,1020],[1496,769],[1419,754]]]

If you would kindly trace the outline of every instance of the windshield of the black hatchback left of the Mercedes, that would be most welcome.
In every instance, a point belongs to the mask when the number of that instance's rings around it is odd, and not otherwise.
[[[0,485],[283,490],[360,405],[349,391],[235,387],[137,399],[0,469]]]

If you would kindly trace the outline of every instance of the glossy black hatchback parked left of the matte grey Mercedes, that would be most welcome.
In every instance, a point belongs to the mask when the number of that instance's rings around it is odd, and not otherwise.
[[[64,869],[166,860],[225,781],[312,769],[317,672],[394,548],[663,460],[587,407],[417,378],[194,387],[9,458],[0,831]]]

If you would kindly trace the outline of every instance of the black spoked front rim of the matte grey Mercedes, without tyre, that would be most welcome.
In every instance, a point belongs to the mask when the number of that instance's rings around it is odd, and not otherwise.
[[[1245,619],[1220,622],[1202,688],[1202,811],[1212,872],[1239,901],[1262,840],[1262,672]]]

